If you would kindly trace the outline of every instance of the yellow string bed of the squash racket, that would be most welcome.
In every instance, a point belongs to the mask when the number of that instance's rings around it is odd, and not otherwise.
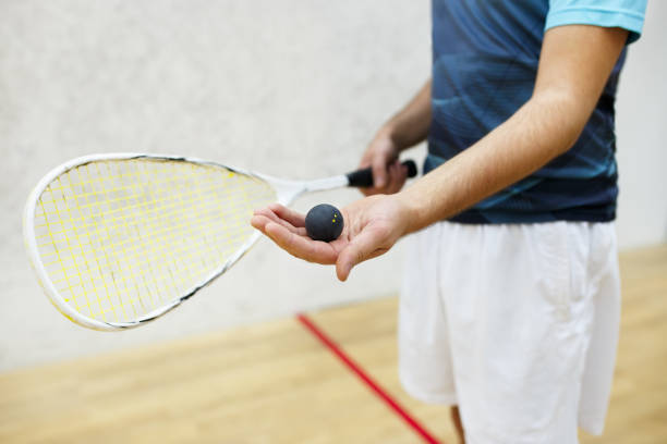
[[[222,168],[97,161],[45,188],[35,236],[66,304],[126,322],[202,284],[250,238],[252,210],[275,200],[265,182]]]

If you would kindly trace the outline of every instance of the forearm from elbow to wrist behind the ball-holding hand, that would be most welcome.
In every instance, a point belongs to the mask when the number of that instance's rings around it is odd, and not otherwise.
[[[529,100],[469,149],[403,190],[409,232],[450,218],[538,170],[568,150],[590,110],[558,95]]]

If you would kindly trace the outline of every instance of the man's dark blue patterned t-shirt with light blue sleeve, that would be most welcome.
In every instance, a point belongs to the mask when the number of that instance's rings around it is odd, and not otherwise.
[[[621,27],[639,38],[646,0],[433,0],[428,172],[509,119],[533,92],[546,29]],[[623,50],[574,146],[456,215],[464,223],[610,221],[618,195],[614,101]]]

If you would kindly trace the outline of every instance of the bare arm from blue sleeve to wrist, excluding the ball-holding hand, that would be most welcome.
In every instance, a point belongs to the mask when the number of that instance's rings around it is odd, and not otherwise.
[[[549,29],[533,97],[475,145],[398,195],[407,208],[408,232],[459,213],[570,149],[627,37],[623,29],[585,25]]]

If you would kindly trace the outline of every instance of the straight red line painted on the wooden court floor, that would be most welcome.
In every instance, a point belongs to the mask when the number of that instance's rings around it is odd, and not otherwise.
[[[333,355],[336,355],[350,370],[352,370],[371,390],[375,392],[403,421],[405,421],[412,430],[422,436],[424,442],[430,444],[444,444],[436,440],[424,425],[422,425],[416,419],[414,419],[408,410],[401,406],[398,400],[393,399],[385,388],[383,388],[377,382],[371,378],[368,373],[361,368],[360,365],[354,362],[345,351],[333,342],[322,329],[319,329],[307,316],[296,314],[296,319],[301,322],[311,333],[313,333]]]

